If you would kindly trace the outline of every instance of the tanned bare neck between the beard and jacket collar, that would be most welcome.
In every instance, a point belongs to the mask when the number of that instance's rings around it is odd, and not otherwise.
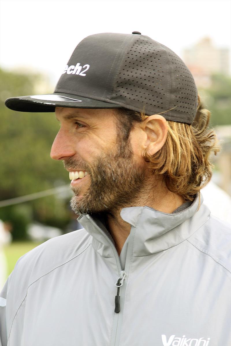
[[[152,191],[155,191],[155,197],[153,197]],[[163,184],[160,183],[159,188],[158,184],[156,184],[155,187],[151,189],[150,193],[145,193],[145,196],[137,197],[136,201],[130,203],[130,205],[122,206],[120,209],[114,210],[108,214],[107,226],[114,239],[118,254],[120,255],[125,240],[131,230],[131,225],[125,222],[120,216],[121,209],[126,207],[148,206],[164,213],[172,213],[184,202],[184,199],[180,195],[169,191],[166,185],[163,186]]]

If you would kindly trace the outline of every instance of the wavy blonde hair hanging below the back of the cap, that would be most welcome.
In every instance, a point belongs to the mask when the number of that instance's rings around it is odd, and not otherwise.
[[[127,111],[130,118],[132,111]],[[148,117],[141,113],[138,119],[137,114],[134,121],[141,122]],[[168,190],[181,195],[186,201],[193,201],[196,193],[210,181],[213,169],[210,156],[220,150],[214,130],[208,127],[210,115],[198,95],[193,124],[167,120],[168,133],[163,147],[152,156],[147,151],[144,153],[144,159],[149,162],[153,173],[162,175]]]

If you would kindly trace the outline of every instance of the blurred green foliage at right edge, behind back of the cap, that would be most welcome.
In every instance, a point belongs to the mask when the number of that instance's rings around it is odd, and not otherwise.
[[[231,78],[222,74],[213,74],[211,81],[211,87],[202,91],[205,96],[202,98],[204,106],[211,112],[210,124],[212,127],[230,125]]]

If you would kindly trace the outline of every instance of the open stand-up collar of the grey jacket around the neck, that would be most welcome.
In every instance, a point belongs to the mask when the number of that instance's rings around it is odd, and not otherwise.
[[[192,235],[210,215],[203,197],[195,198],[191,206],[179,213],[168,214],[150,207],[130,207],[121,210],[121,217],[131,225],[128,242],[133,242],[132,256],[149,256],[176,246]],[[102,220],[83,214],[80,224],[92,235],[92,246],[103,257],[115,256],[112,237]],[[109,240],[108,240],[109,238]]]

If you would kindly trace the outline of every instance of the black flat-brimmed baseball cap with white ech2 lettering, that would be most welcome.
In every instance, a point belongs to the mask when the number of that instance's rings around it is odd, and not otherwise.
[[[179,56],[133,31],[84,38],[64,66],[54,93],[13,97],[5,104],[22,112],[127,108],[192,124],[198,98],[193,76]]]

